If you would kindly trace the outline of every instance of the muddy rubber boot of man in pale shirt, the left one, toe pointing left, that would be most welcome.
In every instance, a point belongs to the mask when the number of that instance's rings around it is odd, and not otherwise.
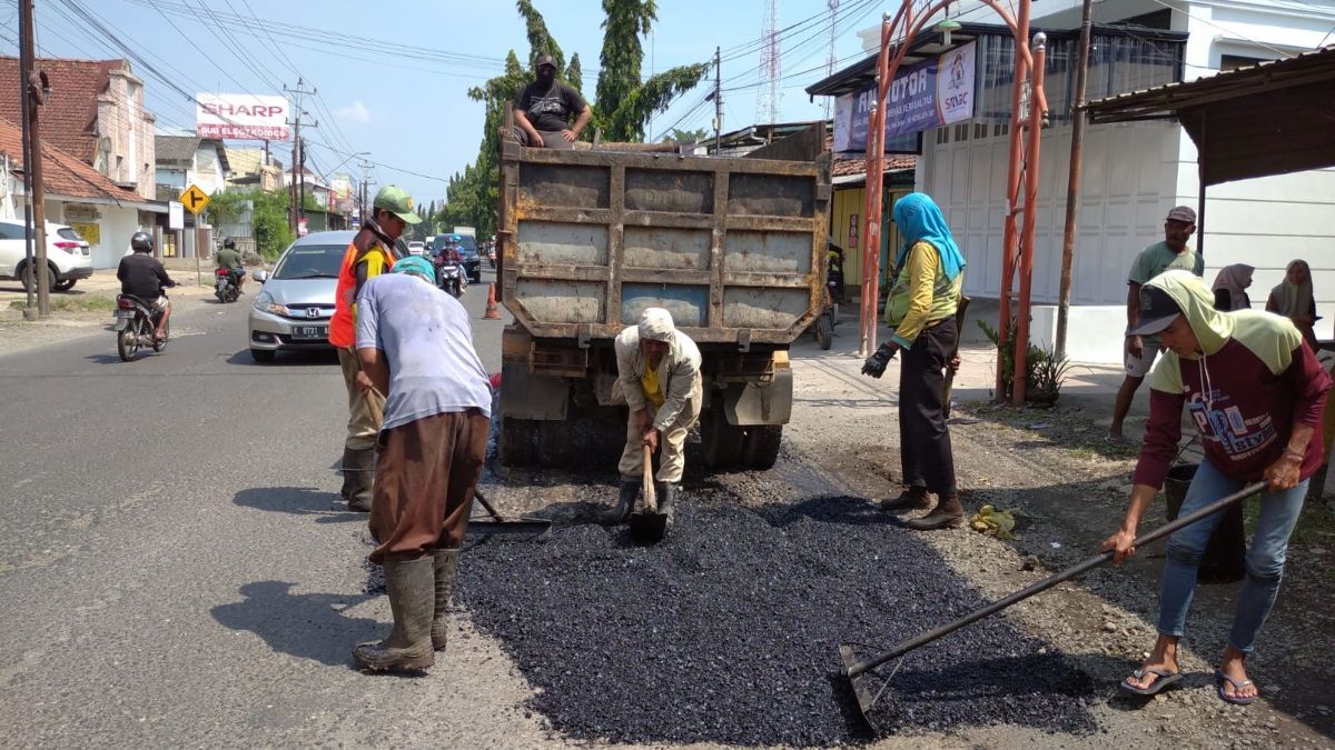
[[[358,666],[372,671],[421,670],[435,663],[431,617],[435,611],[435,559],[386,560],[384,587],[390,594],[394,630],[379,643],[352,650]]]

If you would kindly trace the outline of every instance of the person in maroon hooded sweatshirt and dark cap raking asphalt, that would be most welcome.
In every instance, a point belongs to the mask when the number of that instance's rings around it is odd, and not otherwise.
[[[1140,519],[1163,487],[1181,439],[1183,410],[1200,436],[1204,459],[1187,488],[1181,515],[1264,479],[1256,532],[1247,550],[1247,579],[1238,591],[1215,693],[1227,703],[1256,701],[1247,658],[1275,605],[1288,538],[1303,510],[1308,482],[1324,460],[1322,415],[1331,378],[1288,320],[1243,310],[1214,310],[1206,284],[1188,271],[1168,271],[1140,287],[1140,323],[1167,352],[1149,382],[1149,420],[1132,475],[1121,526],[1099,547],[1121,563],[1136,552]],[[1223,514],[1208,515],[1168,538],[1160,578],[1159,638],[1121,689],[1153,695],[1183,679],[1177,643],[1196,590],[1196,573]]]

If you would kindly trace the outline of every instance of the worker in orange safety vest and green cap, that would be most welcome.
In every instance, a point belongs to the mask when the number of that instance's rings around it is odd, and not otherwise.
[[[343,255],[334,292],[330,343],[338,348],[343,384],[347,386],[347,438],[343,440],[343,488],[347,510],[370,512],[375,480],[375,438],[380,432],[384,396],[363,395],[356,387],[362,370],[356,359],[356,295],[367,279],[387,274],[394,266],[394,243],[409,224],[422,219],[413,212],[413,198],[403,188],[384,185],[375,194],[371,215]]]

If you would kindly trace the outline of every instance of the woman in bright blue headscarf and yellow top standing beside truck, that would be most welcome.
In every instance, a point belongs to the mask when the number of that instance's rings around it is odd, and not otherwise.
[[[898,498],[881,500],[888,511],[934,510],[909,520],[918,531],[957,528],[964,507],[955,486],[955,456],[945,428],[945,368],[959,342],[955,319],[964,284],[964,256],[945,226],[941,210],[921,192],[894,203],[894,224],[904,246],[894,260],[885,322],[894,330],[876,350],[862,374],[880,378],[894,352],[904,350],[900,367],[900,463],[906,488]]]

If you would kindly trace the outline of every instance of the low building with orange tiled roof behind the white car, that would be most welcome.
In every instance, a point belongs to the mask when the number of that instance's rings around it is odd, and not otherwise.
[[[23,128],[4,119],[0,119],[0,159],[7,168],[0,216],[21,219]],[[91,246],[96,268],[115,267],[129,235],[158,223],[156,214],[167,210],[164,204],[147,202],[138,192],[116,184],[51,141],[41,144],[41,176],[47,220],[77,230]]]

